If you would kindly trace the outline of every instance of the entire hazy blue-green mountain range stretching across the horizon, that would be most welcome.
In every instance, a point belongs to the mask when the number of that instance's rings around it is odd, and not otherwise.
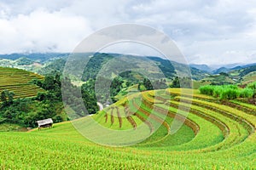
[[[37,72],[42,75],[47,75],[49,73],[55,72],[55,71],[63,71],[64,66],[66,64],[66,61],[68,59],[68,56],[70,54],[61,54],[61,53],[46,53],[46,54],[0,54],[0,66],[3,67],[13,67],[13,68],[19,68],[26,71],[33,71]],[[86,56],[89,56],[89,54],[84,54]],[[86,65],[86,68],[84,69],[84,72],[82,75],[83,81],[87,81],[90,78],[95,79],[98,72],[101,71],[102,66],[108,63],[108,61],[112,60],[114,58],[119,59],[124,57],[124,54],[102,54],[102,53],[96,53],[96,54],[90,54],[90,59],[88,64]],[[127,55],[128,56],[128,55]],[[84,57],[82,55],[82,57]],[[135,62],[134,66],[137,65],[137,67],[148,67],[148,71],[150,72],[151,76],[157,78],[160,77],[160,71],[164,73],[165,77],[172,79],[173,77],[177,76],[177,72],[179,75],[185,75],[186,71],[184,71],[184,68],[186,68],[186,65],[169,61],[166,59],[162,59],[160,57],[155,56],[135,56],[135,55],[129,55],[129,62],[124,61],[123,63],[116,63],[116,65],[124,66],[124,65],[133,65],[131,62]],[[137,59],[141,59],[138,61]],[[154,68],[150,65],[148,65],[148,62],[153,62],[154,65],[157,65],[160,69],[160,71],[153,71]],[[229,83],[233,82],[250,82],[251,80],[254,80],[254,68],[256,63],[253,64],[247,64],[247,65],[241,65],[241,64],[230,64],[230,65],[222,65],[222,67],[219,67],[218,69],[214,70],[212,65],[197,65],[197,64],[190,64],[189,68],[192,74],[192,78],[194,80],[204,80],[210,82],[216,82],[219,81],[226,81]],[[216,65],[215,65],[216,66]],[[114,67],[113,67],[114,68]],[[150,71],[151,69],[151,71]],[[138,70],[143,71],[143,70]],[[114,72],[114,71],[113,71]],[[224,72],[228,73],[228,76],[220,75],[218,77],[218,74]],[[115,73],[118,74],[118,73]],[[213,75],[217,75],[217,77],[211,77]],[[113,75],[114,76],[114,75]],[[213,79],[212,79],[213,78]]]

